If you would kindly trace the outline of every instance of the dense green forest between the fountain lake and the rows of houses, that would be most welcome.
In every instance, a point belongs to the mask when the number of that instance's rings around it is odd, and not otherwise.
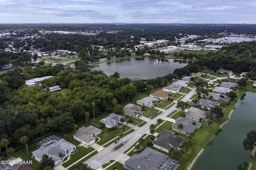
[[[24,57],[24,54],[4,51],[0,54],[18,59]],[[164,87],[173,78],[197,72],[199,68],[212,71],[224,68],[236,73],[247,71],[251,79],[256,79],[256,42],[235,43],[221,51],[196,56],[187,66],[150,81],[120,79],[118,73],[108,77],[102,71],[91,71],[79,62],[76,69],[62,64],[39,63],[34,68],[25,66],[23,70],[7,71],[0,75],[0,136],[4,139],[7,135],[10,145],[18,147],[22,145],[19,140],[24,135],[32,141],[50,132],[69,132],[75,123],[85,119],[86,112],[92,117],[92,102],[95,102],[96,115],[111,113],[115,105],[131,101],[148,85]],[[24,84],[26,79],[46,75],[54,75],[54,78],[45,79],[42,86],[27,87]],[[62,94],[44,90],[54,85],[69,91]]]

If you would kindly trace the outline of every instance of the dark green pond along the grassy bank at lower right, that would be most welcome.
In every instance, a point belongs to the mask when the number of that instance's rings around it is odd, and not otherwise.
[[[218,136],[212,137],[213,146],[206,146],[190,170],[243,170],[244,162],[250,162],[252,152],[242,144],[246,134],[256,130],[256,93],[247,92],[239,100]]]

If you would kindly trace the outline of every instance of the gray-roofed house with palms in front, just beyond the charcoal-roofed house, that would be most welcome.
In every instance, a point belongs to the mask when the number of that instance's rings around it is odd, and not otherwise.
[[[190,135],[191,132],[194,132],[197,128],[200,128],[202,123],[196,122],[196,125],[192,125],[192,120],[186,119],[183,117],[178,117],[175,120],[175,125],[172,126],[172,130],[180,132],[182,134]],[[183,129],[179,129],[178,125],[182,124]]]

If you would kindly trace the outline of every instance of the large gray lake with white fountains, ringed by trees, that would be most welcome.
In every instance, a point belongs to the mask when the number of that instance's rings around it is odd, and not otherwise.
[[[166,59],[163,57],[130,57],[108,61],[90,66],[92,70],[103,70],[108,76],[116,71],[120,77],[128,78],[156,78],[173,73],[174,69],[182,68],[188,64],[187,60]]]

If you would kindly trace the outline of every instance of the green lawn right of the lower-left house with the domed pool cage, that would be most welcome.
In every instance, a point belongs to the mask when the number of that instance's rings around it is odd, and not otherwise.
[[[88,153],[94,150],[94,148],[92,147],[90,147],[90,150],[88,150],[84,146],[81,146],[81,147],[77,146],[76,149],[77,149],[77,152],[74,154],[71,154],[69,160],[64,164],[62,164],[62,166],[67,168],[68,166],[70,166],[71,164],[73,164],[74,162],[76,162],[77,160],[79,160],[80,158],[82,158],[83,156],[87,155]]]

